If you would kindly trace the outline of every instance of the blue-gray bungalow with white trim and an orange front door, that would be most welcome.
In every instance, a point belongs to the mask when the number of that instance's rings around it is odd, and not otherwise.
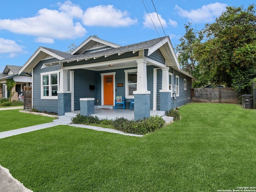
[[[80,110],[80,98],[101,106],[113,106],[116,96],[134,99],[135,119],[191,99],[193,77],[180,69],[168,36],[127,46],[90,36],[71,54],[39,47],[23,72],[33,76],[33,108],[58,115]]]

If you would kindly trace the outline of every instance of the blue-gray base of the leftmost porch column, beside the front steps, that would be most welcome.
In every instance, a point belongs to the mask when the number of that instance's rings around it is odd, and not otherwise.
[[[58,116],[71,111],[71,93],[58,93]]]

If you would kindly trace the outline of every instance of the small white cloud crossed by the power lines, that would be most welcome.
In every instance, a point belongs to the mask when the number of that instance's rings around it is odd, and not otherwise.
[[[159,19],[158,19],[158,17],[159,17]],[[160,14],[157,14],[156,12],[149,13],[149,14],[145,13],[143,18],[144,18],[143,25],[146,28],[154,29],[154,26],[156,28],[162,27],[162,26],[163,27],[167,26],[167,22],[162,18],[162,16]],[[161,23],[159,20],[161,21]],[[152,22],[154,23],[154,25]],[[161,26],[161,24],[162,24],[162,26]]]

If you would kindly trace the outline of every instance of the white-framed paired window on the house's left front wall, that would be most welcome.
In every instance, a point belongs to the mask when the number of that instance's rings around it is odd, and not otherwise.
[[[58,99],[59,71],[41,73],[41,99]]]

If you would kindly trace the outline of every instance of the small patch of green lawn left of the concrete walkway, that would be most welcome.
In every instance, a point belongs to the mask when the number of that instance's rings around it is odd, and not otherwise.
[[[55,118],[27,114],[17,110],[0,111],[0,132],[52,122]]]

